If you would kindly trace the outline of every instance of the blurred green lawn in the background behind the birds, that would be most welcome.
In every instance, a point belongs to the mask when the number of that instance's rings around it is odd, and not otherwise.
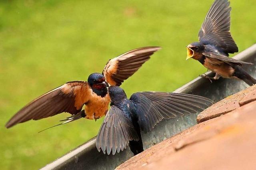
[[[64,113],[11,129],[10,117],[37,96],[72,80],[87,80],[130,49],[163,49],[122,88],[173,91],[206,69],[185,61],[185,45],[213,0],[22,0],[0,2],[0,169],[38,169],[94,137],[103,119],[55,127]],[[231,0],[232,35],[240,51],[256,43],[256,1]]]

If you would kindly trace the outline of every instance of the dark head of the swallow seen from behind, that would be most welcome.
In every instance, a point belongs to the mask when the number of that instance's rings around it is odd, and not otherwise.
[[[124,90],[119,86],[110,86],[108,88],[108,94],[112,102],[120,101],[124,98],[127,98]]]

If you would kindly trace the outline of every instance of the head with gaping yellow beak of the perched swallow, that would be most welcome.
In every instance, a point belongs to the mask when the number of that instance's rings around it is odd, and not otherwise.
[[[196,58],[198,55],[202,55],[202,52],[204,51],[204,45],[202,43],[194,42],[187,47],[187,59],[190,58]]]

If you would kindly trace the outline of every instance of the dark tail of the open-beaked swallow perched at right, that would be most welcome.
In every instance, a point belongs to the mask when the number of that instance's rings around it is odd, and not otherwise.
[[[256,84],[256,79],[250,76],[241,66],[236,66],[233,75],[246,82],[249,86]]]

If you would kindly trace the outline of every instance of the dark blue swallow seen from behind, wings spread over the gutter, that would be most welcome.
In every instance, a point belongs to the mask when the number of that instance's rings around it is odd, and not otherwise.
[[[96,139],[104,154],[116,154],[129,145],[134,155],[142,152],[141,131],[147,133],[162,119],[197,113],[213,104],[201,96],[168,92],[137,92],[127,98],[118,86],[108,88],[110,109]]]

